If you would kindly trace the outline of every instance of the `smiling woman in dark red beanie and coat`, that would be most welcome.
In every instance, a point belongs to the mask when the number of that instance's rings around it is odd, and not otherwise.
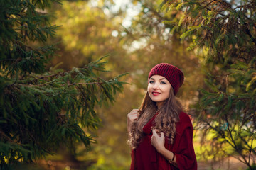
[[[183,79],[183,72],[167,63],[149,72],[142,106],[127,115],[131,170],[197,169],[193,126],[175,97]]]

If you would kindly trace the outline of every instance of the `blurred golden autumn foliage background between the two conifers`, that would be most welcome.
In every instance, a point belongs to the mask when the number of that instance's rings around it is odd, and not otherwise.
[[[247,169],[245,164],[228,154],[226,157],[222,155],[220,161],[218,155],[210,152],[213,145],[206,140],[213,135],[208,133],[202,138],[201,129],[194,122],[200,114],[197,110],[200,89],[206,88],[204,54],[187,50],[189,41],[181,41],[181,32],[170,33],[171,26],[163,21],[175,13],[158,11],[161,1],[154,0],[63,0],[61,3],[53,3],[47,9],[50,22],[60,26],[56,36],[47,42],[58,47],[58,56],[48,62],[48,69],[69,70],[110,55],[106,59],[106,69],[111,72],[105,77],[129,73],[122,77],[122,81],[129,84],[124,85],[123,93],[115,96],[112,105],[96,108],[102,125],[97,130],[87,130],[97,136],[90,151],[80,143],[69,149],[60,147],[57,154],[38,160],[36,164],[21,165],[20,169],[129,169],[127,113],[140,106],[148,73],[151,67],[161,62],[174,64],[185,75],[177,97],[195,126],[193,144],[198,169]]]

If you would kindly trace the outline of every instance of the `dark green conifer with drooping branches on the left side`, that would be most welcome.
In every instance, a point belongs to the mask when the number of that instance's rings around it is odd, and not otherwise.
[[[46,70],[55,55],[46,40],[55,35],[46,8],[52,1],[0,1],[0,169],[33,162],[60,145],[95,142],[95,106],[114,102],[119,75],[102,79],[104,58],[73,68]],[[41,46],[35,45],[41,44]]]

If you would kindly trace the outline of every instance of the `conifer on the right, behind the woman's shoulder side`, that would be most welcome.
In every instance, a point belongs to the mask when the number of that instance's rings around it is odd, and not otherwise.
[[[203,57],[206,87],[198,125],[213,133],[210,154],[237,157],[254,169],[256,155],[256,1],[163,1],[171,33]],[[228,149],[229,147],[229,149]],[[230,149],[232,148],[232,149]]]

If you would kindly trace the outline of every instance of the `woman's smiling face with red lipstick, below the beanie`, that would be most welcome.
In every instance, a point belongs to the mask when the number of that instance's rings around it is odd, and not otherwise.
[[[147,91],[151,100],[156,102],[157,107],[159,107],[167,98],[169,98],[171,84],[165,77],[153,75],[149,79]]]

